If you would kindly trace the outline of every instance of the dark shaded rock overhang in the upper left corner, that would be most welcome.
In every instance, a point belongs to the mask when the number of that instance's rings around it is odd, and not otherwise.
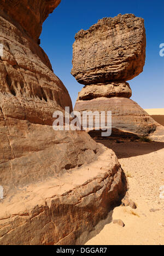
[[[48,15],[60,4],[61,0],[3,0],[0,9],[10,17],[10,22],[17,22],[19,28],[38,42],[42,24]],[[2,14],[1,14],[2,15]]]

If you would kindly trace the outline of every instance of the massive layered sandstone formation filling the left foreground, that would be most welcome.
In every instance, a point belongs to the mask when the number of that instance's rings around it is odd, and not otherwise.
[[[85,242],[126,191],[112,150],[52,129],[54,111],[72,102],[38,38],[59,3],[0,3],[0,245]]]

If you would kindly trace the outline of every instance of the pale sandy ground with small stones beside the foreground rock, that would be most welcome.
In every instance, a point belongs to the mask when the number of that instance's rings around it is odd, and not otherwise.
[[[121,219],[125,227],[109,223],[86,245],[164,245],[164,187],[160,191],[164,186],[164,143],[98,142],[118,156],[137,209],[116,207],[112,217]],[[157,211],[150,212],[152,208]]]

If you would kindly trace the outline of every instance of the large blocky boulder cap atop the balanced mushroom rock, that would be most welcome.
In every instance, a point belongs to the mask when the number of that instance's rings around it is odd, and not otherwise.
[[[99,20],[75,36],[72,75],[84,85],[131,80],[143,71],[145,45],[142,18],[119,14]]]

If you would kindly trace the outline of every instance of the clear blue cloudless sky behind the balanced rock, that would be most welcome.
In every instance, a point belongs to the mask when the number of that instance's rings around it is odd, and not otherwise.
[[[61,0],[43,24],[40,46],[69,91],[73,106],[83,88],[71,75],[75,33],[104,17],[126,13],[142,17],[147,33],[144,71],[129,82],[132,100],[143,108],[164,108],[164,57],[159,54],[160,44],[164,44],[164,0]]]

